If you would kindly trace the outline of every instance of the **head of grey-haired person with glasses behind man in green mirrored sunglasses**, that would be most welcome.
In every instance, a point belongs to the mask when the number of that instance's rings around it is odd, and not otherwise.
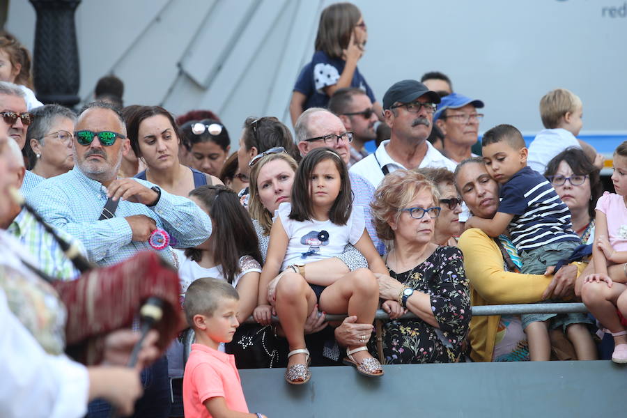
[[[43,178],[59,176],[74,167],[72,139],[76,114],[59,104],[33,109],[26,132],[28,168]]]

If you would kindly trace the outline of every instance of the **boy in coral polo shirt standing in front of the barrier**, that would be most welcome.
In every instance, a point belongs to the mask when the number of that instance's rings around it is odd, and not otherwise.
[[[183,375],[183,408],[187,418],[265,418],[251,414],[242,391],[235,357],[218,350],[233,339],[240,325],[237,291],[224,280],[197,279],[185,294],[185,317],[196,343]]]

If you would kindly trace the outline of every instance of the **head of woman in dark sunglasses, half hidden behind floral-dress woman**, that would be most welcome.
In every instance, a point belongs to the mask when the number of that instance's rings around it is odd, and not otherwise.
[[[457,238],[461,233],[459,214],[462,212],[462,200],[455,188],[455,176],[444,168],[417,169],[416,171],[431,180],[440,194],[438,201],[440,216],[435,219],[433,242],[438,245],[457,247]]]

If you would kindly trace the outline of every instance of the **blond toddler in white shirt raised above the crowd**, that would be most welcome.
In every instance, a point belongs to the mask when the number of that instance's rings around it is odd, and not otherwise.
[[[529,167],[544,174],[546,164],[566,148],[582,148],[596,168],[603,168],[603,155],[587,142],[575,138],[583,126],[581,99],[566,88],[556,88],[540,100],[540,117],[545,129],[529,144]]]

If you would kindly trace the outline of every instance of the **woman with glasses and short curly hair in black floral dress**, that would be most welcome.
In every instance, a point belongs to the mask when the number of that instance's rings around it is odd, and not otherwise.
[[[386,364],[458,362],[462,355],[470,292],[461,251],[433,242],[438,201],[431,181],[401,169],[385,176],[371,204],[377,234],[392,242],[389,276],[378,278],[392,319],[377,337]],[[398,319],[406,311],[418,318]]]

